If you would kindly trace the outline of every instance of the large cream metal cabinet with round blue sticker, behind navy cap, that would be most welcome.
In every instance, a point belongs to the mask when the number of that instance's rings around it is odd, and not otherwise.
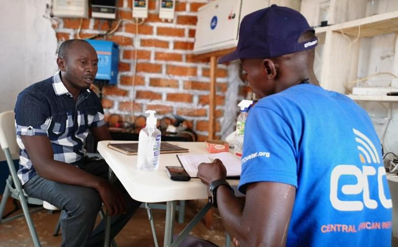
[[[235,47],[242,18],[269,6],[269,0],[215,0],[198,10],[195,54]]]

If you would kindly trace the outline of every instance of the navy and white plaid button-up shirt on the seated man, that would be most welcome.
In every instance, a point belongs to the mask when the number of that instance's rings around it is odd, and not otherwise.
[[[105,124],[104,109],[91,90],[82,90],[76,102],[61,81],[60,73],[23,90],[15,104],[17,143],[20,148],[18,177],[26,183],[36,174],[21,135],[45,135],[54,160],[73,163],[86,154],[90,128]]]

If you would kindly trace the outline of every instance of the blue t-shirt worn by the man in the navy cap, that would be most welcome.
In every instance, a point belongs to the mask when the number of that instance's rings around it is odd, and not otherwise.
[[[350,98],[304,84],[258,101],[245,126],[239,190],[296,187],[287,246],[390,246],[381,145]]]

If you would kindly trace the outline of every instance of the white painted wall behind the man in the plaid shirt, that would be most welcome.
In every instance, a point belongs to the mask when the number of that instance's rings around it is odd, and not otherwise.
[[[3,0],[0,7],[0,112],[16,96],[57,71],[57,38],[43,17],[51,0]]]

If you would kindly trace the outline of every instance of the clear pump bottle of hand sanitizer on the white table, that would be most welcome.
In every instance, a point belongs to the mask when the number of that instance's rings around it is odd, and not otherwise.
[[[146,118],[145,128],[141,129],[138,137],[137,168],[139,170],[156,170],[159,167],[162,134],[156,128],[155,113],[155,111],[145,112],[150,116]]]

